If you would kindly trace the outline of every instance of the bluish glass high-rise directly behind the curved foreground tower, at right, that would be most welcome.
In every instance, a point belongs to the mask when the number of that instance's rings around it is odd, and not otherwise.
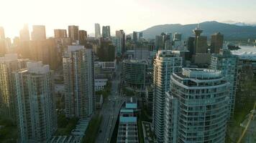
[[[229,49],[222,49],[219,54],[212,54],[211,69],[220,70],[229,86],[229,113],[234,114],[234,103],[236,99],[237,78],[238,78],[238,56],[233,55]]]

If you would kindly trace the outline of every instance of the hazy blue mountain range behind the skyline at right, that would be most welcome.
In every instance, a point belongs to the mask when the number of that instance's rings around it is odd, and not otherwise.
[[[192,30],[195,29],[198,24],[163,24],[152,26],[148,29],[145,29],[143,36],[145,39],[155,39],[155,36],[165,33],[175,33],[179,32],[183,35],[183,39],[187,39],[188,36],[193,36]],[[211,39],[211,34],[216,32],[221,32],[224,34],[224,40],[247,40],[247,39],[256,39],[256,26],[247,26],[247,25],[237,25],[237,24],[226,24],[218,21],[205,21],[199,24],[200,29],[203,29],[201,35],[208,36],[208,39]]]

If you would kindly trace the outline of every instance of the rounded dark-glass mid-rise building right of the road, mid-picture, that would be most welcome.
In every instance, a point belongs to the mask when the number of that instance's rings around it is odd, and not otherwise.
[[[124,84],[132,89],[145,89],[147,62],[145,60],[124,60],[122,79]]]

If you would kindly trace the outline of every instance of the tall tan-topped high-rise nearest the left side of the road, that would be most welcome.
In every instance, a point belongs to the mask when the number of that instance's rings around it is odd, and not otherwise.
[[[63,56],[65,115],[84,119],[95,111],[93,52],[68,46]]]

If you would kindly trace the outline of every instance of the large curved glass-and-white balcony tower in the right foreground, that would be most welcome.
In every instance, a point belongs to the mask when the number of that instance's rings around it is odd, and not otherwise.
[[[225,142],[228,93],[221,71],[173,73],[165,100],[164,142]]]

